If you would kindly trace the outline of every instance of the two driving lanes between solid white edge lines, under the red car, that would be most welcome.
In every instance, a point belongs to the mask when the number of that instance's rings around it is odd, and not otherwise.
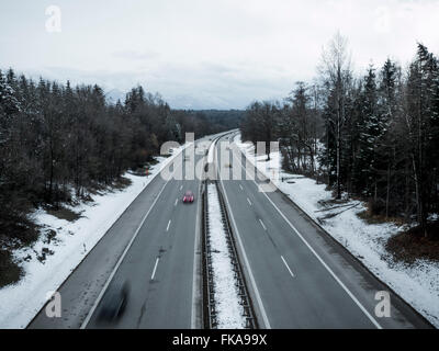
[[[188,190],[198,193],[199,185],[195,180],[171,180],[151,208],[111,282],[127,280],[131,286],[130,303],[117,328],[191,328],[200,202],[183,204],[182,197]],[[87,328],[105,327],[98,320],[100,307]]]

